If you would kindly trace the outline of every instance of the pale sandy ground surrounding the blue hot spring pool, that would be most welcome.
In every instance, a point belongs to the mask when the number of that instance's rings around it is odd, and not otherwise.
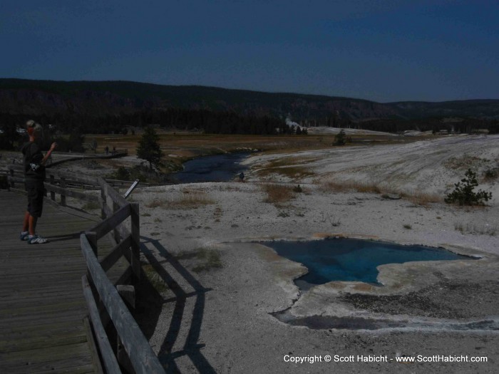
[[[153,349],[180,373],[495,373],[498,180],[480,179],[494,199],[478,208],[324,185],[354,180],[442,195],[467,167],[478,175],[498,167],[498,140],[445,137],[257,155],[247,160],[252,170],[244,183],[138,189],[144,251],[169,286],[142,321]],[[297,160],[283,167],[300,165],[313,175],[261,177],[259,170],[279,157]],[[262,179],[299,183],[303,192],[281,204],[265,202]],[[191,208],[189,199],[200,204]],[[340,235],[443,246],[481,259],[384,265],[381,287],[332,282],[300,292],[292,279],[306,269],[254,243]],[[212,252],[221,267],[208,265]],[[396,363],[404,355],[431,362]],[[488,362],[472,362],[475,356]]]

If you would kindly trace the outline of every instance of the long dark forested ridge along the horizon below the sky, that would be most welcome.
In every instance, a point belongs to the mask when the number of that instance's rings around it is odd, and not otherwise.
[[[440,103],[370,100],[300,93],[265,93],[200,85],[158,85],[124,80],[58,81],[0,78],[0,112],[12,115],[78,113],[120,115],[168,108],[233,111],[295,121],[428,117],[499,118],[499,100]]]

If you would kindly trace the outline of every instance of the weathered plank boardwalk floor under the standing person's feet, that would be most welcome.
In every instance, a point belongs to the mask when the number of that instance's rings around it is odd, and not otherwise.
[[[44,204],[37,232],[19,240],[26,197],[0,190],[0,373],[95,373],[79,233],[95,222]]]

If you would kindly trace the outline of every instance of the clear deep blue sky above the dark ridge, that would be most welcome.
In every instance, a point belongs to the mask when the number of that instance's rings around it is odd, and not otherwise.
[[[1,0],[0,78],[499,99],[499,1]]]

